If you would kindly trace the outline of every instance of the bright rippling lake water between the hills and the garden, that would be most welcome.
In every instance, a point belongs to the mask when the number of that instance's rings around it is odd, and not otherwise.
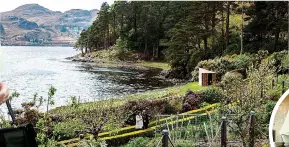
[[[55,106],[60,106],[66,105],[70,96],[87,102],[171,85],[155,76],[159,71],[124,71],[70,62],[64,58],[77,52],[67,47],[1,47],[1,52],[0,79],[21,94],[12,101],[13,107],[31,100],[36,92],[46,97],[50,86],[57,89]]]

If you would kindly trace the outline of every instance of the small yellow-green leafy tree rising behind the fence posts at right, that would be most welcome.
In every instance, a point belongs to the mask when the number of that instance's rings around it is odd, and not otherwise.
[[[269,99],[267,92],[275,69],[268,63],[268,60],[263,60],[260,64],[252,65],[247,71],[247,79],[235,77],[223,83],[230,105],[224,103],[222,113],[233,114],[231,119],[235,127],[232,130],[242,139],[243,146],[247,146],[249,139],[249,112],[260,111],[261,105]],[[255,126],[256,136],[260,135],[258,130],[261,127],[261,124]]]

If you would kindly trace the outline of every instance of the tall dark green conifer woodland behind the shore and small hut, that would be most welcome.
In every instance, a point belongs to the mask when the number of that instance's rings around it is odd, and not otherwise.
[[[103,3],[75,47],[135,51],[188,75],[201,60],[287,48],[288,2],[116,1]]]

